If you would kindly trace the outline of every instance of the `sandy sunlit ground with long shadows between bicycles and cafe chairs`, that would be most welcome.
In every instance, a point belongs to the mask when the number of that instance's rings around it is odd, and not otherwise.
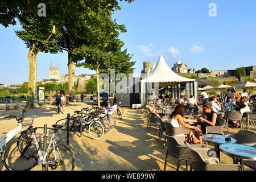
[[[89,104],[89,103],[88,103]],[[27,118],[35,118],[34,126],[49,127],[58,119],[65,118],[67,113],[80,110],[88,106],[81,102],[69,104],[65,114],[57,114],[54,106],[41,107],[28,110]],[[0,111],[0,136],[16,126],[14,119],[6,120],[4,117],[10,114],[20,114],[20,110]],[[117,116],[115,118],[118,118]],[[140,109],[125,108],[122,121],[117,119],[117,126],[110,130],[100,140],[90,138],[84,131],[82,137],[72,135],[70,146],[75,153],[76,170],[163,170],[166,147],[163,147],[163,139],[158,140],[158,131],[152,129],[150,133],[146,129],[147,123]],[[230,133],[237,133],[238,129],[230,129]],[[62,141],[65,142],[65,133],[62,133]],[[232,163],[232,159],[221,154],[222,162]],[[176,160],[169,160],[167,170],[175,170]],[[184,166],[181,163],[181,170]],[[36,166],[32,170],[41,170]],[[246,168],[248,169],[248,168]],[[0,162],[0,170],[5,170]]]

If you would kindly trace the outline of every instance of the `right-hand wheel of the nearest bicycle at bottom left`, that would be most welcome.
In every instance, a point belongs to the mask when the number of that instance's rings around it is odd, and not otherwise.
[[[56,144],[55,150],[51,148],[46,157],[46,171],[73,171],[74,168],[75,155],[69,146],[61,143]]]

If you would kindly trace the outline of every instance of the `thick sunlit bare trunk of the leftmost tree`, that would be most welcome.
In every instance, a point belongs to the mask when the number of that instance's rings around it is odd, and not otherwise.
[[[38,105],[38,90],[36,86],[36,55],[34,45],[28,52],[28,62],[30,64],[30,73],[28,77],[27,104],[28,108],[39,107]]]

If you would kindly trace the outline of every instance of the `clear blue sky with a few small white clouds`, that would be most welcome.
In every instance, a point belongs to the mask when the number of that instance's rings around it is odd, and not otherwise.
[[[216,3],[217,17],[210,17],[209,4]],[[256,1],[231,0],[135,0],[121,2],[114,14],[127,32],[120,36],[134,53],[135,73],[143,61],[157,63],[162,53],[170,67],[177,60],[189,68],[236,69],[256,65]],[[25,44],[16,37],[19,27],[0,26],[0,83],[19,84],[28,80]],[[49,64],[68,73],[67,53],[38,54],[38,80],[48,78]],[[76,75],[93,73],[75,68]]]

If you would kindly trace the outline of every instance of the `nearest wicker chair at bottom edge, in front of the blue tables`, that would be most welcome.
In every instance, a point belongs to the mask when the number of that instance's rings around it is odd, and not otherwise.
[[[242,171],[242,166],[239,164],[220,163],[214,156],[214,154],[217,156],[214,148],[195,148],[189,143],[185,143],[185,146],[191,150],[191,171]]]

